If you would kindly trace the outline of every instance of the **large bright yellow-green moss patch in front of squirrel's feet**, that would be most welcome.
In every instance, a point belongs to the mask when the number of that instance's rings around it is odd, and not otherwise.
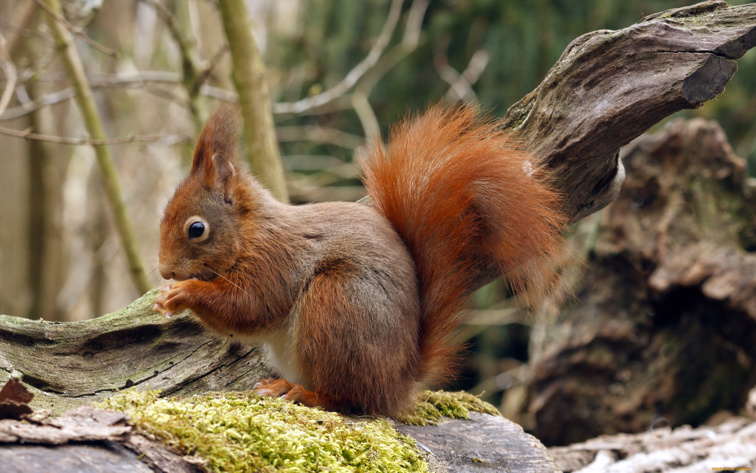
[[[384,420],[358,422],[253,393],[161,398],[132,389],[98,407],[127,412],[136,431],[218,473],[428,471],[415,441]]]

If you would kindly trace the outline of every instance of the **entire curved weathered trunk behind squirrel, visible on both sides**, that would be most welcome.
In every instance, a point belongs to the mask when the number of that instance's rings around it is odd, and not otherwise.
[[[510,108],[519,130],[553,169],[581,219],[611,202],[624,179],[618,149],[649,126],[723,91],[736,58],[756,43],[756,5],[704,2],[652,15],[624,30],[575,39],[534,92]],[[485,255],[471,289],[497,277]],[[166,394],[249,388],[267,369],[258,351],[205,333],[184,314],[161,319],[155,292],[85,322],[0,318],[0,372],[20,372],[37,407],[58,409],[150,384]]]

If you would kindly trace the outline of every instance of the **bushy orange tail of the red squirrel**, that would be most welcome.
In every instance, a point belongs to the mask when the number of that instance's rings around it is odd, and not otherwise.
[[[409,247],[420,277],[423,310],[421,381],[445,374],[459,347],[467,282],[491,255],[507,282],[536,305],[556,282],[567,220],[561,199],[533,159],[478,107],[431,107],[373,144],[363,160],[376,210]]]

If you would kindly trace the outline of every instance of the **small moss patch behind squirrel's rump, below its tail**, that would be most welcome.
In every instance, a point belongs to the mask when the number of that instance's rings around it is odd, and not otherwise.
[[[423,391],[417,397],[415,412],[397,420],[407,425],[435,425],[443,416],[469,419],[469,411],[500,415],[494,406],[465,391]]]

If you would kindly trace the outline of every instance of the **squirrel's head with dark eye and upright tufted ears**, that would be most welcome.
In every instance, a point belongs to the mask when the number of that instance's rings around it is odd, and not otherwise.
[[[245,182],[235,164],[237,119],[218,110],[200,133],[191,173],[178,185],[160,220],[160,275],[214,279],[240,251],[240,217],[249,213]]]

